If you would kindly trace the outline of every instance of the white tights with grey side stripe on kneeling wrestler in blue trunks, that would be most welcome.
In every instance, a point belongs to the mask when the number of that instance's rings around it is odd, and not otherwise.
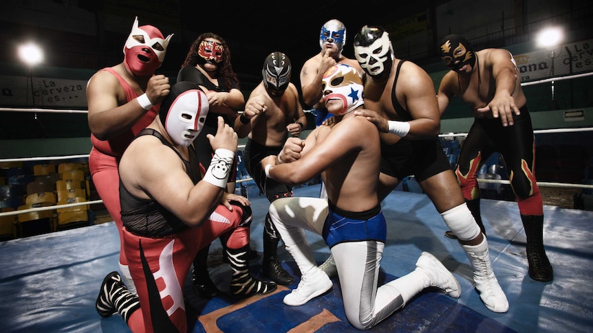
[[[303,229],[321,235],[327,214],[327,200],[321,198],[280,198],[270,205],[270,218],[301,274],[316,268]],[[378,287],[384,246],[369,240],[343,242],[332,248],[346,317],[360,330],[374,327],[430,284],[427,275],[414,271]]]

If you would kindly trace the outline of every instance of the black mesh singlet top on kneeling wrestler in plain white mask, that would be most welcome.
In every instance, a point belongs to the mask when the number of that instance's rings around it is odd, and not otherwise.
[[[194,184],[202,179],[200,174],[200,163],[193,146],[189,146],[189,161],[181,157],[179,152],[167,142],[158,131],[151,128],[145,128],[137,137],[142,135],[152,135],[160,139],[162,144],[171,148],[182,159],[186,174],[191,178]],[[188,228],[182,220],[175,214],[166,210],[155,200],[146,200],[131,195],[120,180],[120,201],[122,222],[127,231],[143,237],[163,238],[173,235]]]

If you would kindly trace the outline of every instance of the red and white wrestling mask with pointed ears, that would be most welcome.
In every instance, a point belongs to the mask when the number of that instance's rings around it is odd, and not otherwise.
[[[138,16],[124,46],[124,63],[136,76],[151,76],[162,65],[166,47],[173,34],[163,38],[152,25],[138,27]]]

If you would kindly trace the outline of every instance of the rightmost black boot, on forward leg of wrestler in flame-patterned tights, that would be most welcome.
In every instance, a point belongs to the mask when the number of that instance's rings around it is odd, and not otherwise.
[[[529,277],[539,282],[552,281],[554,272],[543,248],[543,215],[523,215],[521,221],[527,236]]]

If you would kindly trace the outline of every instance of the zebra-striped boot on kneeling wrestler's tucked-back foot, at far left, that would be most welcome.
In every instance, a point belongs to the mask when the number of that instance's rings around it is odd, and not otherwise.
[[[131,314],[140,309],[140,300],[126,288],[118,272],[111,272],[103,279],[95,308],[101,317],[119,312],[127,323]]]

